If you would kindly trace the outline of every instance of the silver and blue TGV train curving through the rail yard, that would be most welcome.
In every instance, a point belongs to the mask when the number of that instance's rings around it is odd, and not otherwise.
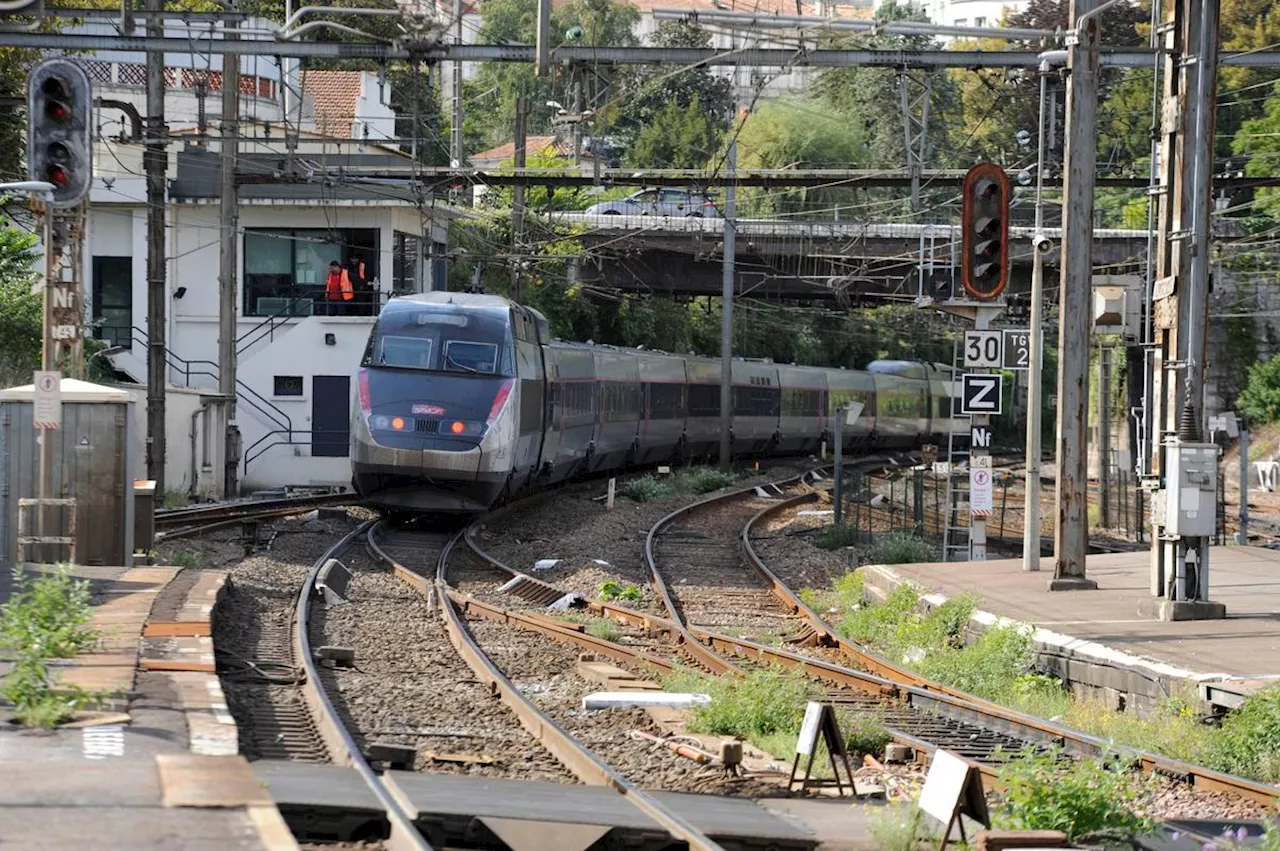
[[[732,450],[847,450],[968,439],[952,370],[867,371],[735,360]],[[390,299],[369,337],[352,424],[356,490],[390,511],[483,512],[522,491],[636,465],[716,456],[721,362],[552,340],[538,311],[497,296]]]

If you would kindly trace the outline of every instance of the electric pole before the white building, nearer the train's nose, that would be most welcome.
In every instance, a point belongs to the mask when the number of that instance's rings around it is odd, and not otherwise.
[[[238,40],[237,23],[223,22],[227,40]],[[239,427],[236,425],[236,239],[239,198],[236,192],[236,160],[239,154],[239,55],[223,56],[221,120],[221,246],[218,255],[218,392],[227,412],[227,449],[223,491],[227,499],[239,494]]]

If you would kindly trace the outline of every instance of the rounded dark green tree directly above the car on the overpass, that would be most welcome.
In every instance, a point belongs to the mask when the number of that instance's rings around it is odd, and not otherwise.
[[[710,36],[692,23],[664,22],[655,47],[709,47]],[[705,67],[637,73],[620,95],[616,127],[637,168],[698,168],[719,147],[733,114],[733,87]],[[680,143],[667,138],[678,138]],[[644,139],[641,142],[641,139]]]

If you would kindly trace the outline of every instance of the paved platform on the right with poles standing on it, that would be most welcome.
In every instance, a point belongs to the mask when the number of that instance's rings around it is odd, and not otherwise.
[[[1149,568],[1148,553],[1091,555],[1087,573],[1096,591],[1048,591],[1051,558],[1033,573],[1023,571],[1021,559],[863,569],[873,596],[909,581],[932,605],[977,595],[978,628],[1000,618],[1034,624],[1042,663],[1108,703],[1151,704],[1176,691],[1203,691],[1204,683],[1216,683],[1226,699],[1280,677],[1280,552],[1212,549],[1211,598],[1225,604],[1225,619],[1139,614],[1149,612]]]

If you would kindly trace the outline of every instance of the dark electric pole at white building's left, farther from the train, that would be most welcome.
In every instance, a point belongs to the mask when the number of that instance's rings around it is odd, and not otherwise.
[[[147,38],[164,37],[164,0],[146,0]],[[168,287],[165,284],[165,171],[169,168],[164,122],[164,54],[147,54],[147,146],[142,169],[147,182],[147,477],[156,499],[165,493],[165,380]]]

